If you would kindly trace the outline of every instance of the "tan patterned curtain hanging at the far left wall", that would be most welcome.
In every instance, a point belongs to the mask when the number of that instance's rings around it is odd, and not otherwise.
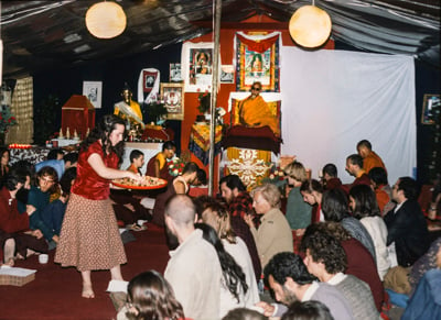
[[[17,80],[12,95],[11,112],[17,119],[17,124],[9,128],[6,143],[31,144],[34,134],[32,77]]]

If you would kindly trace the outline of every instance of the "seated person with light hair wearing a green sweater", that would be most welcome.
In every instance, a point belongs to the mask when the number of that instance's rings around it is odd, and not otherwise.
[[[288,185],[292,186],[288,194],[286,217],[300,243],[304,229],[311,224],[311,205],[304,202],[300,194],[300,187],[308,179],[306,170],[301,163],[293,162],[286,166],[283,172],[288,177]]]

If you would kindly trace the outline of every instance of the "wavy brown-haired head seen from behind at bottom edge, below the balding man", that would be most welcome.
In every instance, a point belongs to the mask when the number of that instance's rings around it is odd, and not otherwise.
[[[178,320],[184,319],[184,310],[174,297],[173,288],[155,271],[133,277],[127,288],[127,305],[117,320]]]

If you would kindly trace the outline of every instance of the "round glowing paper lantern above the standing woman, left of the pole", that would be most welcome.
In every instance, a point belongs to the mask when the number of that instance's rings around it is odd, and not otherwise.
[[[127,18],[121,5],[111,1],[95,3],[86,12],[87,30],[99,38],[120,35],[126,24]]]

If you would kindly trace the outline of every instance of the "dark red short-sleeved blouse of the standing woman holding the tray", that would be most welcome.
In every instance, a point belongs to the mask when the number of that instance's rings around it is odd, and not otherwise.
[[[110,195],[110,181],[98,176],[87,162],[89,156],[94,153],[101,157],[105,166],[115,169],[118,167],[119,158],[116,153],[110,153],[105,157],[101,144],[98,141],[94,142],[89,145],[87,151],[82,151],[79,153],[76,167],[77,176],[72,186],[72,192],[90,200],[104,200]]]

